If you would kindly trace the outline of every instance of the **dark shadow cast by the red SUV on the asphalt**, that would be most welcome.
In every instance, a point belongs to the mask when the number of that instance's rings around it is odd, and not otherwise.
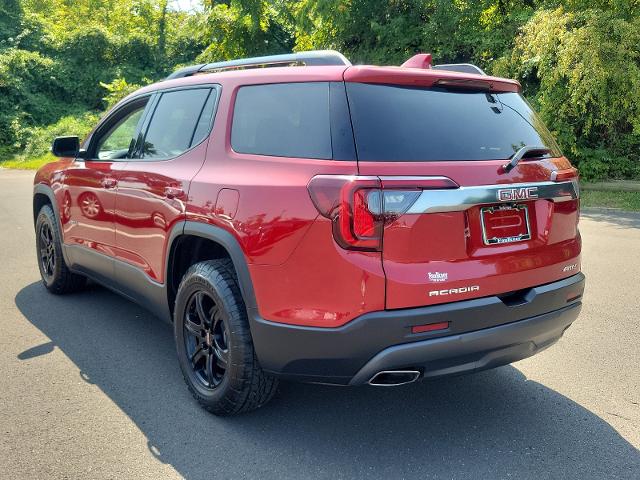
[[[217,418],[191,399],[171,326],[92,286],[15,299],[185,478],[638,478],[607,422],[514,367],[398,388],[282,384],[264,408]],[[54,315],[52,312],[65,312]],[[35,367],[34,367],[35,368]]]

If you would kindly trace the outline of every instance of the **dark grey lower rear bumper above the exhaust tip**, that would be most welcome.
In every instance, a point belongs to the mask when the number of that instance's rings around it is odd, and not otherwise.
[[[251,318],[258,359],[271,374],[307,382],[360,385],[381,370],[422,377],[474,372],[529,357],[556,342],[577,318],[584,275],[528,289],[430,307],[365,314],[339,328]],[[255,312],[254,312],[255,313]],[[447,330],[411,333],[447,321]]]

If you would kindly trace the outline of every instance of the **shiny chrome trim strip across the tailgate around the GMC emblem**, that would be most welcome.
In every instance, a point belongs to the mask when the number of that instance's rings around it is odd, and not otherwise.
[[[536,188],[540,200],[564,202],[578,198],[578,192],[571,181],[538,183],[504,183],[500,185],[479,185],[456,189],[423,190],[406,214],[461,212],[475,205],[491,203],[513,203],[532,199],[500,200],[498,190]]]

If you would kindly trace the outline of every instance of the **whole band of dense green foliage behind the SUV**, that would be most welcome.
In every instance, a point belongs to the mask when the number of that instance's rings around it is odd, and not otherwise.
[[[334,48],[517,78],[584,177],[640,178],[639,45],[640,0],[0,0],[0,159],[181,64]]]

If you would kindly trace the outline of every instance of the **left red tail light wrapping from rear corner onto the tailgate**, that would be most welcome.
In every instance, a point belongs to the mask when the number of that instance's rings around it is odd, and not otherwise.
[[[382,232],[427,188],[457,188],[446,177],[317,175],[308,185],[320,214],[331,220],[333,237],[349,250],[379,252]]]

